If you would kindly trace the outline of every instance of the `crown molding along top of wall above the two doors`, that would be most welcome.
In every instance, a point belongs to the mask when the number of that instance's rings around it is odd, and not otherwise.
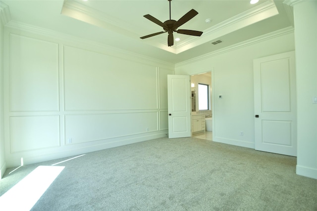
[[[182,66],[194,63],[194,62],[198,62],[198,61],[210,58],[212,56],[219,55],[219,54],[222,54],[222,53],[225,53],[225,52],[228,52],[231,50],[235,50],[235,49],[238,49],[241,47],[245,47],[245,46],[257,43],[257,42],[262,42],[262,41],[269,40],[269,39],[279,37],[282,35],[287,35],[287,34],[293,33],[293,32],[294,32],[294,27],[292,27],[292,26],[286,27],[284,29],[280,29],[280,30],[277,30],[275,32],[271,32],[271,33],[268,33],[268,34],[265,34],[265,35],[262,35],[262,36],[244,41],[244,42],[239,42],[239,43],[233,44],[231,46],[228,46],[228,47],[225,47],[225,48],[222,48],[219,50],[215,50],[215,51],[212,51],[210,53],[206,53],[202,56],[198,56],[198,57],[186,60],[184,62],[177,63],[177,64],[175,64],[175,68],[182,67]]]

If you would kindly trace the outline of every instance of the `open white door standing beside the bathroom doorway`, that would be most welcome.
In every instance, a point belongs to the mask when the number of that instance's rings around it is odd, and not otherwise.
[[[190,78],[167,75],[168,138],[191,136]]]

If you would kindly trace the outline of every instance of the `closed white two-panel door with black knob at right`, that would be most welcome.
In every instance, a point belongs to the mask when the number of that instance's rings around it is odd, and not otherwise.
[[[255,149],[296,156],[294,51],[254,60]]]

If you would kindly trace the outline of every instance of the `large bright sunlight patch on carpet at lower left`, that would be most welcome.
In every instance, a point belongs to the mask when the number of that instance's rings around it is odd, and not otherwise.
[[[39,166],[0,197],[5,211],[29,211],[65,167]]]

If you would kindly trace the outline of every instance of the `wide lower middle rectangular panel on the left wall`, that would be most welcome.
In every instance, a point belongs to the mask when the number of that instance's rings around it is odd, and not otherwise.
[[[72,144],[158,131],[158,113],[66,115],[65,131]]]

